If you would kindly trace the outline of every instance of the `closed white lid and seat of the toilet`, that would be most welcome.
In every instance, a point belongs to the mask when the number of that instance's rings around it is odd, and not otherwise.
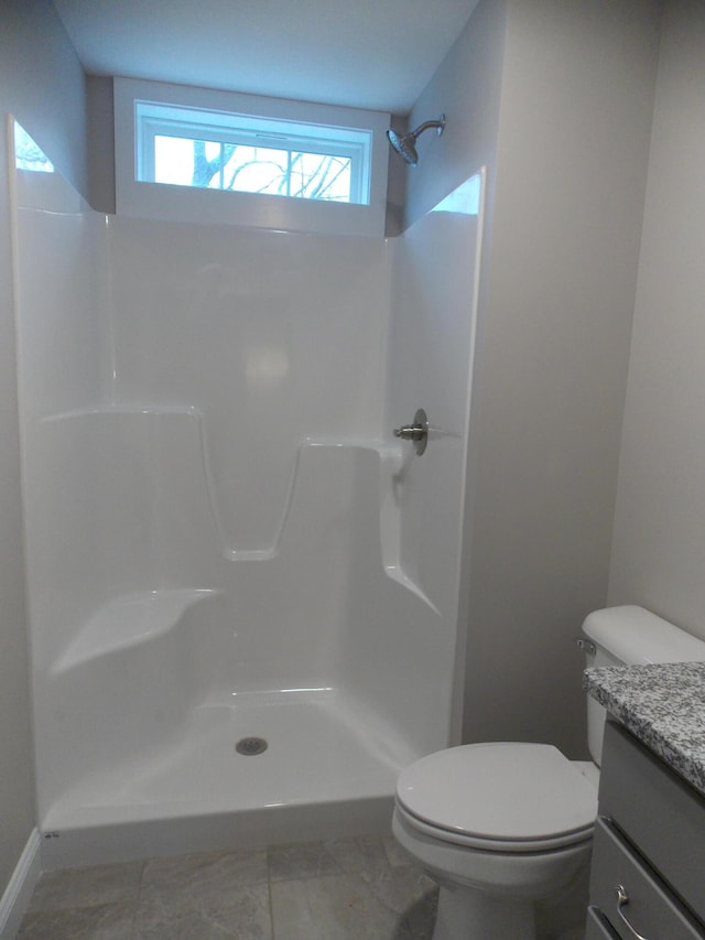
[[[435,829],[507,849],[525,843],[524,851],[535,847],[530,843],[584,839],[597,814],[595,787],[547,744],[468,744],[430,754],[402,770],[397,799]]]

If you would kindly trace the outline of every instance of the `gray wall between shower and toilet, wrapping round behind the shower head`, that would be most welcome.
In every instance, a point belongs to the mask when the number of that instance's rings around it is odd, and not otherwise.
[[[572,638],[607,595],[659,21],[657,0],[480,2],[412,115],[448,128],[422,139],[410,219],[478,161],[490,183],[466,741],[583,753]]]

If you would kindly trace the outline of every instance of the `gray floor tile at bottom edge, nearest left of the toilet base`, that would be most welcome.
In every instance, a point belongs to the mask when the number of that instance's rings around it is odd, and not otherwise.
[[[392,940],[400,919],[349,875],[273,882],[275,940]]]

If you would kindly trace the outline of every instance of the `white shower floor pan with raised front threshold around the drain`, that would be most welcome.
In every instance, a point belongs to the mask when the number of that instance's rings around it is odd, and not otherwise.
[[[238,753],[238,742],[252,737],[267,749]],[[383,830],[397,776],[416,757],[379,718],[333,690],[205,703],[158,753],[95,774],[55,802],[42,826],[43,864]]]

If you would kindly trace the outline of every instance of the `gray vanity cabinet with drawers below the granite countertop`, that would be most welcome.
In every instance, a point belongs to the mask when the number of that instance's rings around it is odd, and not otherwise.
[[[608,721],[586,940],[705,940],[705,799]]]

